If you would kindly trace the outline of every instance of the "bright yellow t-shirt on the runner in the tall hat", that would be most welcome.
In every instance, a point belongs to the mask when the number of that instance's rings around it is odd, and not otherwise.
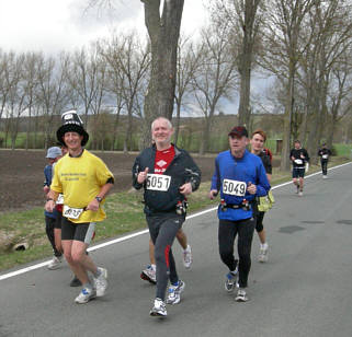
[[[72,158],[66,154],[55,166],[50,188],[64,194],[64,202],[70,208],[87,207],[100,193],[109,178],[114,178],[105,163],[96,155],[83,150],[82,155]],[[83,211],[75,223],[96,222],[106,218],[102,205],[96,212]]]

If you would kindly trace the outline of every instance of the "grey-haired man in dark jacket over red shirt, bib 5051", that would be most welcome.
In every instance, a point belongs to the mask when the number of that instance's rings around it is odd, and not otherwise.
[[[184,282],[178,276],[171,246],[185,220],[186,196],[201,184],[200,168],[186,151],[171,143],[172,133],[169,119],[154,120],[155,144],[145,149],[133,166],[133,186],[144,188],[145,213],[155,245],[157,290],[151,316],[167,316],[166,303],[177,304],[181,300]]]

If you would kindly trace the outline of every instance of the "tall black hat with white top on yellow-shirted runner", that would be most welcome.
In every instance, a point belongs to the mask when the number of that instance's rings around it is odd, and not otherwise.
[[[82,119],[78,116],[76,111],[69,111],[63,114],[61,116],[63,125],[56,131],[57,140],[65,144],[64,136],[66,132],[77,132],[83,136],[81,146],[84,147],[88,142],[89,135],[83,128]]]

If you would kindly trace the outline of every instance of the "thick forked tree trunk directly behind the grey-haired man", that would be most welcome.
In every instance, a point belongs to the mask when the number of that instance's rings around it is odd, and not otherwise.
[[[163,2],[160,16],[160,0],[141,0],[145,4],[145,21],[151,45],[151,70],[145,97],[144,147],[151,143],[150,125],[158,116],[171,120],[173,112],[178,42],[184,0]]]

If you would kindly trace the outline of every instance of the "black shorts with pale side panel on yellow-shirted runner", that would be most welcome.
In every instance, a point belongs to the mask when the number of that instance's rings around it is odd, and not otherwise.
[[[61,240],[81,241],[90,244],[95,231],[95,222],[73,223],[63,217]]]

